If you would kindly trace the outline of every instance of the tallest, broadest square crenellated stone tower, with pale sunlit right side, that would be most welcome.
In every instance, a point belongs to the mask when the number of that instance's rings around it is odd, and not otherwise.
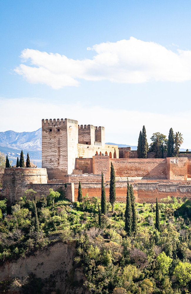
[[[62,179],[73,172],[77,144],[78,121],[42,120],[42,167],[47,169],[49,179]]]

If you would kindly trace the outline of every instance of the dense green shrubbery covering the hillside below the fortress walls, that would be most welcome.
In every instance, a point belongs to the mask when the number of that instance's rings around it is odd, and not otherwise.
[[[77,240],[74,266],[83,268],[90,293],[190,293],[191,225],[188,206],[178,209],[180,199],[158,203],[160,232],[155,229],[155,205],[136,204],[138,230],[127,236],[125,203],[116,203],[114,213],[107,203],[100,227],[96,197],[74,202],[71,211],[71,203],[58,192],[50,190],[41,198],[35,194],[26,191],[10,213],[6,201],[0,201],[1,263],[55,242],[56,235],[63,242]]]

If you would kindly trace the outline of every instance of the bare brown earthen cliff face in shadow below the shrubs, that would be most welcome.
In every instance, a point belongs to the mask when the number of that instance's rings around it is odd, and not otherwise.
[[[0,293],[88,294],[83,271],[74,266],[75,246],[58,242],[1,266]]]

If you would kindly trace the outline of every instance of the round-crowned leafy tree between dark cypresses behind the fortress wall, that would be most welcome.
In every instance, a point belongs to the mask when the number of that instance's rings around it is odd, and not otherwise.
[[[155,152],[155,158],[163,158],[164,152],[167,152],[167,143],[168,140],[166,136],[161,133],[153,133],[153,136],[150,138],[153,141],[150,144],[149,151]]]

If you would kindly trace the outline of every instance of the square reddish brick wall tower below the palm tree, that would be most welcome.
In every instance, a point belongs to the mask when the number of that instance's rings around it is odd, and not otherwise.
[[[167,179],[187,180],[187,157],[167,157]]]

